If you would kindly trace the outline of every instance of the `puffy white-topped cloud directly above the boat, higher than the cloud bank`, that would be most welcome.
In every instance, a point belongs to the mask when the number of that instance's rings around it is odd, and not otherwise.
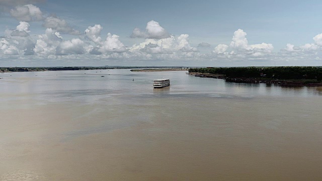
[[[163,27],[161,27],[158,22],[152,20],[147,22],[145,32],[142,32],[139,28],[135,28],[130,37],[162,39],[169,38],[170,34]]]

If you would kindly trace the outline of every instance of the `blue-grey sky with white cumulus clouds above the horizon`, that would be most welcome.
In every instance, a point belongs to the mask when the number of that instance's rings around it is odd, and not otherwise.
[[[0,0],[0,66],[321,66],[320,1]]]

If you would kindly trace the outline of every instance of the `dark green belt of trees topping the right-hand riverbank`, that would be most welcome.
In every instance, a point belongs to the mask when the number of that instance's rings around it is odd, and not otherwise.
[[[189,73],[193,72],[221,74],[230,78],[252,77],[269,79],[322,80],[322,67],[313,66],[189,68]]]

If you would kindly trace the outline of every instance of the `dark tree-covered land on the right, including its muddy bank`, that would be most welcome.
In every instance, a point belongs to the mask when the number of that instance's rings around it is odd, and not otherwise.
[[[189,74],[236,83],[267,83],[290,87],[322,86],[320,66],[189,68]]]

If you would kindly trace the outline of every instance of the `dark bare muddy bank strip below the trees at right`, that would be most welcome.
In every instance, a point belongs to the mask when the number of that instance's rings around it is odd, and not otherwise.
[[[225,79],[227,82],[235,82],[235,83],[267,83],[267,84],[277,84],[280,86],[322,86],[321,81],[317,81],[314,79],[273,79],[273,78],[253,78],[253,77],[227,77],[222,74],[211,74],[211,73],[200,73],[200,72],[190,72],[189,75],[194,75],[198,77],[206,77],[206,78],[219,78]]]

